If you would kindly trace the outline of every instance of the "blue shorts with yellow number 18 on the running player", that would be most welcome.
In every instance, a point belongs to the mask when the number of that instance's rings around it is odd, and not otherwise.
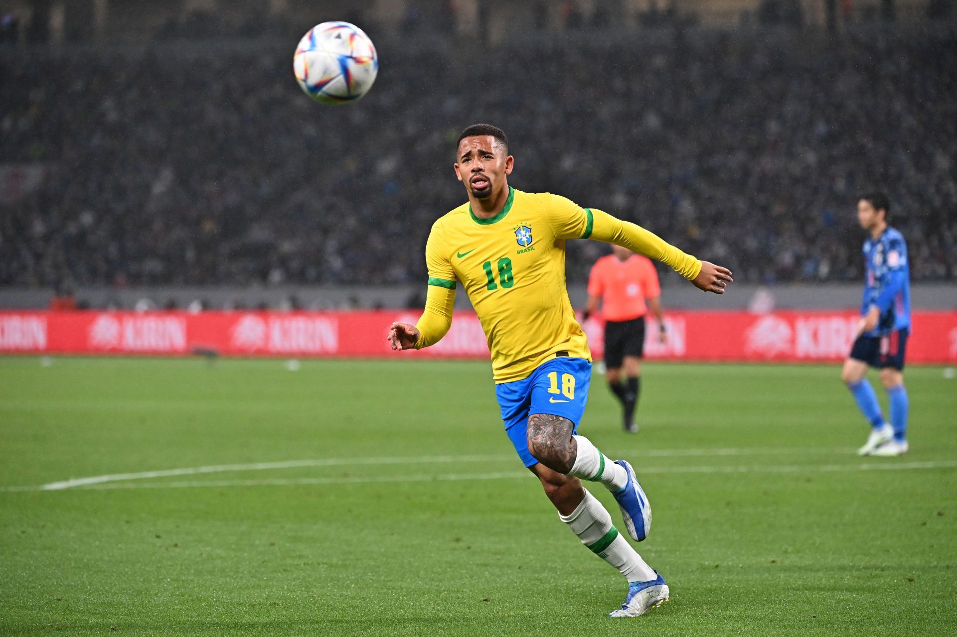
[[[505,433],[525,467],[538,463],[528,450],[528,416],[548,413],[567,418],[574,431],[585,413],[591,384],[591,363],[585,359],[556,357],[535,368],[521,381],[495,385]]]

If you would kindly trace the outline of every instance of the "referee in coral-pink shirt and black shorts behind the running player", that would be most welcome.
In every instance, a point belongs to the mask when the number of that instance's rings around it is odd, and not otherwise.
[[[589,276],[589,304],[584,318],[602,305],[605,318],[605,378],[624,408],[626,431],[637,431],[634,408],[641,393],[641,357],[645,345],[645,315],[649,308],[658,322],[658,340],[668,339],[661,318],[661,285],[651,259],[627,248],[612,246],[598,259]],[[624,378],[622,377],[624,368]]]

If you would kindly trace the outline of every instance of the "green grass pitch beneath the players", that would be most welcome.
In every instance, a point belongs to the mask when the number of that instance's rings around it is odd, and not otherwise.
[[[646,364],[636,435],[595,376],[672,590],[611,620],[487,363],[0,359],[0,634],[957,634],[957,381],[909,368],[910,453],[860,459],[838,373]]]

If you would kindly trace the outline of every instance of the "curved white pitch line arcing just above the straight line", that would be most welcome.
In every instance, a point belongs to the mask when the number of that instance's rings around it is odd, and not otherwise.
[[[806,453],[842,453],[844,449],[659,449],[625,452],[624,455],[636,457],[692,457],[704,455],[795,455]],[[389,456],[383,458],[320,458],[315,460],[284,460],[281,462],[253,462],[232,465],[211,465],[208,467],[185,467],[182,469],[162,469],[149,472],[107,473],[90,477],[71,478],[60,482],[50,482],[40,487],[0,487],[0,491],[59,491],[86,487],[103,482],[122,482],[125,480],[143,480],[156,477],[174,477],[178,475],[196,475],[198,473],[256,472],[273,469],[297,469],[300,467],[341,467],[354,465],[424,465],[447,464],[456,462],[498,462],[512,460],[514,455],[422,455]]]

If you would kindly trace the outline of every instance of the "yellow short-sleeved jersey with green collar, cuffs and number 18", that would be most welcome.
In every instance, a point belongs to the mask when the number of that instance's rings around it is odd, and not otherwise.
[[[496,383],[521,380],[553,357],[591,360],[565,285],[565,241],[589,238],[590,209],[509,188],[491,219],[469,204],[439,218],[426,244],[429,284],[465,288],[492,352]]]

